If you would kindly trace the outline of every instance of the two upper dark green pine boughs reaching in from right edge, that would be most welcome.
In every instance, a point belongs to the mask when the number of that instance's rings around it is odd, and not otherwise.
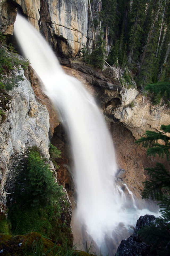
[[[165,133],[170,133],[170,125],[162,125],[163,133],[146,131],[146,137],[141,137],[136,141],[138,145],[148,147],[147,155],[159,155],[166,157],[169,161],[170,155],[170,137]],[[162,141],[159,143],[159,141]],[[156,163],[153,168],[147,168],[149,181],[145,181],[145,187],[142,192],[143,198],[155,199],[159,201],[160,211],[165,221],[170,221],[170,172],[163,164]]]

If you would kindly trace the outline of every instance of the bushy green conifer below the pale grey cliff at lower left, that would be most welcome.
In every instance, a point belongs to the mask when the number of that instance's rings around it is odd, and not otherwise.
[[[9,219],[13,234],[37,231],[43,235],[54,235],[54,228],[61,215],[61,198],[64,193],[52,176],[50,166],[37,148],[30,150],[24,170],[9,205]],[[56,233],[53,238],[57,239]]]

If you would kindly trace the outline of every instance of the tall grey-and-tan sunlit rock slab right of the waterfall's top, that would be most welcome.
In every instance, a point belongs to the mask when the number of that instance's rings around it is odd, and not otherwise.
[[[87,3],[87,0],[41,1],[40,29],[45,37],[50,35],[50,40],[53,41],[54,48],[57,47],[59,54],[74,57],[86,44]]]

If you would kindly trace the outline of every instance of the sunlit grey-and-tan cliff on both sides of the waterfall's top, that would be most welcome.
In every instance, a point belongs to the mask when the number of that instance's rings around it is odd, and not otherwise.
[[[15,0],[0,2],[3,33],[13,34],[17,7],[62,57],[74,57],[86,45],[88,0]]]

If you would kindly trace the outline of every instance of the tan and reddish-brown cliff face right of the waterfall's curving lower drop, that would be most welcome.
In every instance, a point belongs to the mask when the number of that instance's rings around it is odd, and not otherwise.
[[[96,98],[105,116],[120,170],[117,174],[118,182],[126,183],[137,197],[141,197],[142,182],[146,179],[144,169],[154,166],[158,161],[162,162],[162,159],[146,157],[146,150],[134,142],[146,130],[160,131],[162,124],[168,125],[170,109],[165,105],[153,106],[149,98],[143,100],[143,96],[135,88],[123,90],[117,81],[91,66],[74,61],[71,67],[63,68],[67,74],[77,77],[84,84]],[[62,148],[61,143],[60,147]],[[64,173],[63,171],[63,175]]]

